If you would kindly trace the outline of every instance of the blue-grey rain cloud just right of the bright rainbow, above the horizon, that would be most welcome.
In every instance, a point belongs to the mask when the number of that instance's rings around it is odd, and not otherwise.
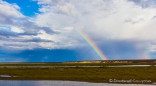
[[[138,44],[135,40],[105,40],[100,48],[109,59],[142,58],[144,50],[139,49]]]

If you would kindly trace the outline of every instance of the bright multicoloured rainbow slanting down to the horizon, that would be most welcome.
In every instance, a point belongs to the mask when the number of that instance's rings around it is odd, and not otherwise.
[[[92,49],[97,53],[97,55],[100,57],[101,60],[107,60],[106,56],[102,53],[102,51],[98,48],[98,46],[93,42],[91,38],[89,38],[80,29],[78,28],[74,29],[86,40],[86,42],[92,47]]]

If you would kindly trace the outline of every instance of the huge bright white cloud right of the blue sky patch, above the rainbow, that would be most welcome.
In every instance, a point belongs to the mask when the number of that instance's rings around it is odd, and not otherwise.
[[[156,38],[156,8],[152,6],[142,8],[128,0],[38,0],[38,4],[42,14],[36,16],[37,24],[56,31],[78,25],[91,38]]]

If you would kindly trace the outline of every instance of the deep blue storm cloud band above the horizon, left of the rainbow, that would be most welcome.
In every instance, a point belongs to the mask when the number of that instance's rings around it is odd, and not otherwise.
[[[76,61],[78,60],[79,54],[77,50],[68,49],[34,49],[34,50],[1,50],[0,48],[1,62],[17,61],[24,59],[23,62],[64,62],[64,61]],[[46,57],[46,59],[45,59]],[[5,59],[7,58],[7,60]],[[4,59],[4,60],[2,60]],[[84,59],[84,58],[83,58]],[[81,59],[79,59],[81,60]]]

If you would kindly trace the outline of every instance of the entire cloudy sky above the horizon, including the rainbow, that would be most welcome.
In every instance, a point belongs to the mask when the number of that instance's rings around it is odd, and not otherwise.
[[[0,0],[0,62],[156,59],[156,0]]]

